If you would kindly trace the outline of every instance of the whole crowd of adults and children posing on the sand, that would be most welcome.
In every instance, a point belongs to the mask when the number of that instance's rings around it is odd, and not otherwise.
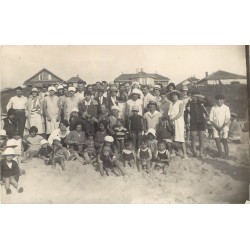
[[[18,189],[23,164],[39,157],[45,165],[65,160],[91,164],[102,176],[127,175],[126,167],[166,169],[171,158],[187,159],[186,142],[191,139],[194,157],[204,158],[205,131],[216,141],[218,157],[229,158],[228,137],[237,141],[240,126],[222,94],[207,111],[207,98],[198,91],[138,82],[97,82],[87,85],[53,84],[32,88],[28,97],[22,88],[7,104],[2,120],[1,173],[6,193],[10,184]],[[231,120],[231,121],[230,121]],[[28,133],[26,132],[28,131]],[[199,152],[197,151],[199,139]],[[223,155],[222,146],[225,154]]]

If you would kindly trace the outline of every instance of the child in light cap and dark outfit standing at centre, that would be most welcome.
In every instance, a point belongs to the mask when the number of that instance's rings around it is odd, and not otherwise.
[[[129,133],[133,140],[133,144],[136,149],[140,147],[141,137],[144,134],[144,122],[143,117],[138,114],[139,107],[134,105],[132,107],[132,115],[129,117]]]

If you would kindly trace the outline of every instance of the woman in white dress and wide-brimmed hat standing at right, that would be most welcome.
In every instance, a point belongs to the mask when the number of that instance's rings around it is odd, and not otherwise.
[[[169,93],[169,98],[172,103],[170,103],[168,115],[170,117],[170,121],[174,124],[174,141],[181,144],[183,159],[187,159],[186,144],[184,138],[184,105],[180,100],[181,93],[177,90],[173,90]]]

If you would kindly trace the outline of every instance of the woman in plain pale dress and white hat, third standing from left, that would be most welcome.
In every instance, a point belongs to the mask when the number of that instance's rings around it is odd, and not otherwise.
[[[49,87],[49,95],[44,98],[43,110],[46,117],[46,134],[49,136],[53,130],[58,128],[61,120],[60,99],[55,95],[56,88]]]

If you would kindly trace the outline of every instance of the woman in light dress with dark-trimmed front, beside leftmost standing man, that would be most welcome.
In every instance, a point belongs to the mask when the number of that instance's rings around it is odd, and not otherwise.
[[[26,106],[26,117],[29,128],[35,126],[38,129],[38,134],[44,133],[43,105],[38,96],[37,88],[32,88],[31,90],[31,97],[28,99]]]

